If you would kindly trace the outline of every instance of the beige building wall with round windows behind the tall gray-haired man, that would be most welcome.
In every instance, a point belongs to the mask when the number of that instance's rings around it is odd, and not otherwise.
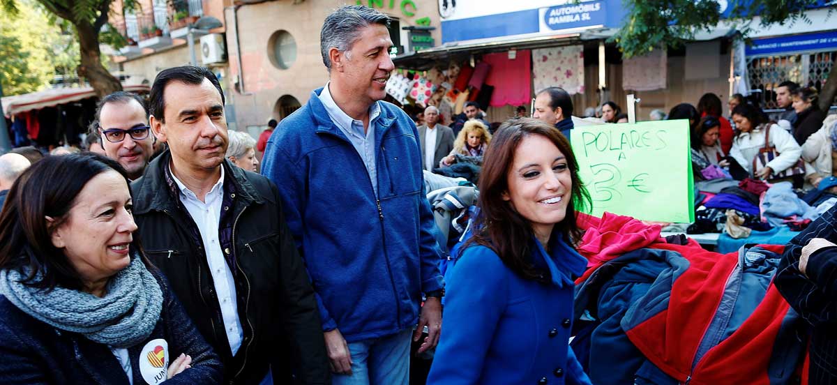
[[[277,0],[225,8],[229,21],[229,103],[239,131],[252,135],[271,118],[281,120],[326,85],[328,73],[320,53],[320,30],[344,0]],[[429,26],[430,40],[439,41],[437,0],[362,0],[393,18],[393,54],[410,49],[403,27]],[[433,41],[424,44],[433,45]]]

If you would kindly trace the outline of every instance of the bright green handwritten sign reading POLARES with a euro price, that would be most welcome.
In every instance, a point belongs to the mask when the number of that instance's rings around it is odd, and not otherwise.
[[[578,126],[571,136],[593,215],[694,222],[689,121]]]

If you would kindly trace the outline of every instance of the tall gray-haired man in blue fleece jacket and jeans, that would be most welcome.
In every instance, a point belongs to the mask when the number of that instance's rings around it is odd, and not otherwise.
[[[410,337],[428,326],[424,352],[441,328],[419,133],[382,101],[394,69],[388,23],[363,6],[326,18],[329,82],[280,123],[262,166],[311,275],[337,385],[407,384]]]

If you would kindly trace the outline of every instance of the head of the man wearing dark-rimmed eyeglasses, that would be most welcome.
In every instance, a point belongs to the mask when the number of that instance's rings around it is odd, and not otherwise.
[[[131,92],[114,92],[100,100],[96,121],[107,157],[119,162],[131,180],[141,177],[154,153],[145,100]]]

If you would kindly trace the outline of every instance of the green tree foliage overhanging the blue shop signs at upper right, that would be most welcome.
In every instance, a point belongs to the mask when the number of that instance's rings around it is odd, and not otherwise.
[[[761,25],[793,23],[805,18],[805,8],[817,0],[728,0],[730,22],[746,36],[752,18],[761,17]],[[626,58],[669,46],[679,46],[701,30],[715,28],[720,7],[711,0],[624,0],[629,13],[619,33],[611,38]]]

